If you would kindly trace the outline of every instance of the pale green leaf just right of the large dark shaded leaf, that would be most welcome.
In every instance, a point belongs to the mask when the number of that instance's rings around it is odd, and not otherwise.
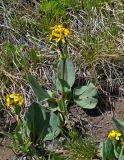
[[[55,139],[60,134],[60,131],[59,117],[54,112],[50,112],[50,122],[45,140]]]

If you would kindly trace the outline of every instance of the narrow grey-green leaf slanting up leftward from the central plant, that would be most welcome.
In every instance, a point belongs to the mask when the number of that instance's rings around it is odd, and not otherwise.
[[[50,98],[49,93],[39,85],[37,80],[32,75],[28,76],[28,81],[39,101]]]

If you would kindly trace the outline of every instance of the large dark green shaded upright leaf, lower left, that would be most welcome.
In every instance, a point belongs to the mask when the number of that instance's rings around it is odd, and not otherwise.
[[[30,129],[32,141],[43,140],[48,133],[50,112],[34,102],[29,106],[25,120],[27,121],[27,127]]]

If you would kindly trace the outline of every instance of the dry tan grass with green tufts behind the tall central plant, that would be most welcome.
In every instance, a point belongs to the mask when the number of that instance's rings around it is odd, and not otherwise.
[[[28,73],[35,75],[41,85],[55,90],[58,53],[49,42],[49,31],[43,30],[46,23],[42,18],[46,12],[40,12],[41,5],[39,1],[0,2],[2,105],[5,95],[16,91],[23,94],[26,105],[31,102]],[[116,90],[123,95],[123,1],[91,3],[87,0],[82,4],[79,1],[76,7],[68,9],[65,23],[72,30],[68,51],[75,64],[78,83],[93,81],[110,98],[116,96]],[[59,18],[62,22],[61,15]]]

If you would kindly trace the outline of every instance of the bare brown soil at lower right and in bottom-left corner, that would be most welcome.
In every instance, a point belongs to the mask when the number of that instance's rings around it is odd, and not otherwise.
[[[88,111],[73,106],[70,108],[70,119],[80,134],[91,135],[95,138],[96,144],[99,144],[114,128],[111,121],[112,117],[124,118],[122,117],[123,113],[124,101],[116,102],[113,107],[101,106]],[[0,123],[0,127],[3,127],[2,123]],[[1,136],[0,138],[0,160],[14,160],[14,153],[7,148],[10,142]]]

